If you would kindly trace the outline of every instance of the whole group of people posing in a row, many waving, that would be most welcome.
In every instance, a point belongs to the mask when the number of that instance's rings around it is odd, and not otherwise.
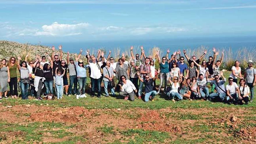
[[[111,51],[105,58],[104,51],[98,50],[96,55],[90,55],[88,50],[85,62],[81,59],[82,49],[75,58],[67,53],[67,59],[64,60],[62,46],[58,48],[58,53],[53,46],[51,56],[36,56],[33,61],[27,61],[28,55],[24,60],[20,56],[17,59],[12,56],[8,61],[2,59],[0,99],[8,98],[9,83],[10,97],[17,98],[17,88],[20,86],[22,99],[28,99],[29,94],[37,100],[42,100],[42,94],[54,94],[57,99],[62,99],[63,94],[75,95],[79,99],[86,97],[86,87],[91,88],[91,97],[97,93],[100,98],[103,86],[104,96],[109,97],[111,94],[116,97],[116,93],[119,93],[125,100],[131,101],[134,101],[135,97],[142,99],[143,96],[145,102],[154,101],[154,97],[161,94],[174,102],[182,99],[204,99],[228,104],[248,104],[249,100],[253,102],[253,88],[256,83],[253,61],[248,61],[243,76],[239,61],[235,61],[225,86],[226,78],[220,70],[224,53],[222,52],[221,59],[217,60],[219,53],[215,48],[208,62],[204,60],[207,51],[204,51],[200,58],[189,58],[186,50],[183,50],[184,56],[181,51],[175,51],[170,57],[170,51],[167,50],[166,56],[160,58],[159,51],[156,51],[154,56],[146,56],[143,47],[141,55],[136,54],[134,57],[131,47],[129,60],[122,54],[118,61],[111,57]],[[189,65],[186,64],[185,58]],[[159,64],[158,69],[155,62]],[[87,86],[87,76],[91,86]],[[156,79],[159,78],[160,84],[157,86]]]

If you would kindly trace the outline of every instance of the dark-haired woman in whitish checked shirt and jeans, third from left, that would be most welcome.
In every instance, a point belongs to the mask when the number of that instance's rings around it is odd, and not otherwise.
[[[18,57],[20,59],[20,57]],[[29,69],[26,61],[21,62],[20,70],[20,87],[21,87],[21,97],[22,99],[28,99],[29,90]]]

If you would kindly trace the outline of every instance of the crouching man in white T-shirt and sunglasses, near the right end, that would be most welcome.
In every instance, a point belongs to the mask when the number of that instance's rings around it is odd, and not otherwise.
[[[237,83],[233,82],[233,78],[228,78],[228,84],[226,85],[226,92],[227,92],[227,103],[230,104],[233,102],[233,104],[237,105],[237,99],[238,96],[240,96],[240,90],[237,86]],[[237,93],[238,95],[237,95]]]

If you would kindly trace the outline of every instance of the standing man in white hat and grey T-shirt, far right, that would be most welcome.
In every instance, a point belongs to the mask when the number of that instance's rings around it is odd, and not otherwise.
[[[245,82],[250,88],[250,92],[251,92],[250,102],[253,102],[253,95],[254,95],[253,87],[255,86],[255,83],[256,83],[256,70],[253,67],[252,60],[248,61],[248,67],[245,70],[243,78],[245,79]]]

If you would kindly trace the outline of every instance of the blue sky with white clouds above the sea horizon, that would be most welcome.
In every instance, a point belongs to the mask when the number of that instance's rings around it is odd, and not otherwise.
[[[0,0],[0,40],[86,42],[256,32],[255,0]]]

